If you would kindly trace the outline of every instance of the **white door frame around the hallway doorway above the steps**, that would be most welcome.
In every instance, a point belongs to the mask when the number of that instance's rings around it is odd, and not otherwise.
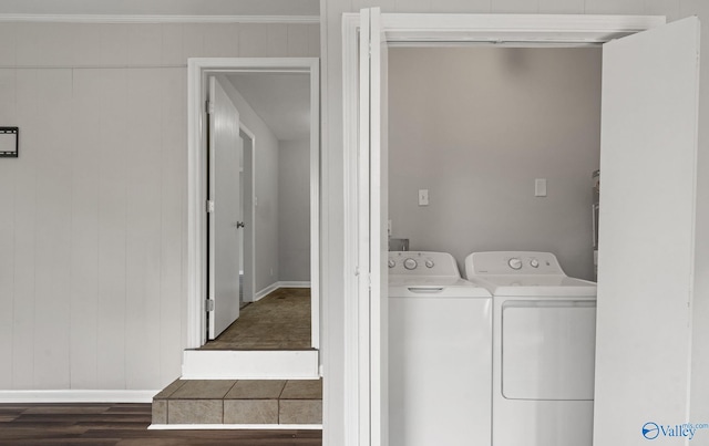
[[[205,85],[215,73],[310,75],[311,346],[320,346],[320,60],[318,58],[192,58],[187,61],[187,349],[206,342]],[[327,269],[327,266],[322,266]]]

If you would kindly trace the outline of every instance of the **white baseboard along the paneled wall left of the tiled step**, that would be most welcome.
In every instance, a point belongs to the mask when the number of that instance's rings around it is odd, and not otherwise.
[[[0,403],[152,403],[160,391],[0,391]]]

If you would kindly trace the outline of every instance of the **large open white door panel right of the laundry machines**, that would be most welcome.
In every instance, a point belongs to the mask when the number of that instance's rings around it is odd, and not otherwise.
[[[604,45],[594,445],[690,422],[698,74],[696,18]]]

